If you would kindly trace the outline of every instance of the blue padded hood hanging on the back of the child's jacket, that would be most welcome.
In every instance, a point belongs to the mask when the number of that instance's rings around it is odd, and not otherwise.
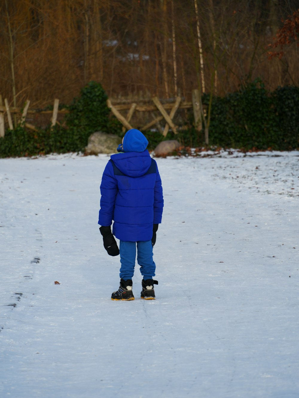
[[[143,152],[119,153],[110,156],[115,166],[129,177],[140,177],[146,174],[151,166],[151,157],[148,150]]]

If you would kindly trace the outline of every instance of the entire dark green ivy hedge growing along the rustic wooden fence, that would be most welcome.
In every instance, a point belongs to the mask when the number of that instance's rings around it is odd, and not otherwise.
[[[100,83],[90,82],[68,106],[67,128],[56,125],[33,132],[19,125],[0,138],[0,157],[80,152],[94,131],[122,136],[122,126],[110,114],[106,100]],[[209,95],[203,96],[203,103],[209,103]],[[178,139],[184,146],[204,146],[204,133],[194,128],[192,111],[177,135],[145,134],[149,149],[165,139]],[[256,80],[224,98],[212,98],[209,144],[244,150],[299,149],[299,88],[278,87],[269,93],[261,80]]]

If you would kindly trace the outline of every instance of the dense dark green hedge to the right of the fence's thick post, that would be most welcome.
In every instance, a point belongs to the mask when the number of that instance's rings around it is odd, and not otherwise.
[[[257,80],[224,98],[215,97],[209,139],[221,147],[299,148],[299,88],[278,87],[268,93]]]

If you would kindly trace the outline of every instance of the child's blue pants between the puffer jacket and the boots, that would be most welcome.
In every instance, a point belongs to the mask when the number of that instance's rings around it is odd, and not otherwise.
[[[146,242],[124,242],[120,240],[120,277],[125,281],[134,275],[137,244],[137,262],[143,279],[152,279],[155,276],[156,265],[153,262],[153,246],[151,240]]]

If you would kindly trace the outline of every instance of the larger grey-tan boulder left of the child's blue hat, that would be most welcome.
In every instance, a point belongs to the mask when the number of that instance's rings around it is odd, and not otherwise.
[[[122,143],[117,135],[105,134],[100,131],[90,135],[88,145],[85,148],[86,155],[97,155],[99,153],[116,153],[116,148]]]

